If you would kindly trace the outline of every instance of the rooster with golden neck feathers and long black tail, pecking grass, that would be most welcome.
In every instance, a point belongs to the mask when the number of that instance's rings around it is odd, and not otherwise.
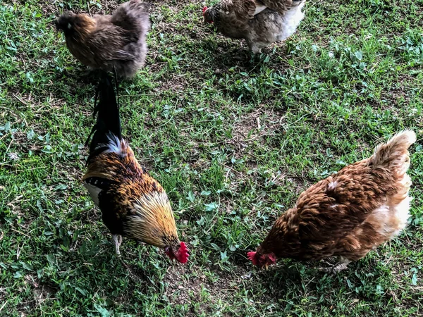
[[[94,109],[97,123],[82,177],[91,198],[102,211],[113,235],[116,254],[122,236],[164,249],[170,259],[188,261],[188,250],[178,239],[171,204],[163,187],[135,159],[122,138],[118,104],[111,78],[104,76]],[[87,140],[89,142],[90,137]]]

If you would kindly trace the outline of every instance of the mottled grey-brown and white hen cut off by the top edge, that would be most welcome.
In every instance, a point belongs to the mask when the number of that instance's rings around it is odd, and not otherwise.
[[[221,0],[204,6],[204,23],[227,37],[245,39],[257,54],[264,46],[287,39],[297,29],[305,0]]]

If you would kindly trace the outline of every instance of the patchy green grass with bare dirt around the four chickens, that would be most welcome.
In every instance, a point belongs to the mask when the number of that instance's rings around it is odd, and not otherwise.
[[[187,266],[130,240],[114,256],[80,182],[94,85],[52,24],[87,6],[45,2],[0,7],[0,316],[422,316],[422,0],[310,0],[254,62],[203,25],[202,1],[154,1],[123,132],[168,192]],[[338,275],[252,267],[246,251],[303,189],[403,128],[419,141],[398,239]]]

